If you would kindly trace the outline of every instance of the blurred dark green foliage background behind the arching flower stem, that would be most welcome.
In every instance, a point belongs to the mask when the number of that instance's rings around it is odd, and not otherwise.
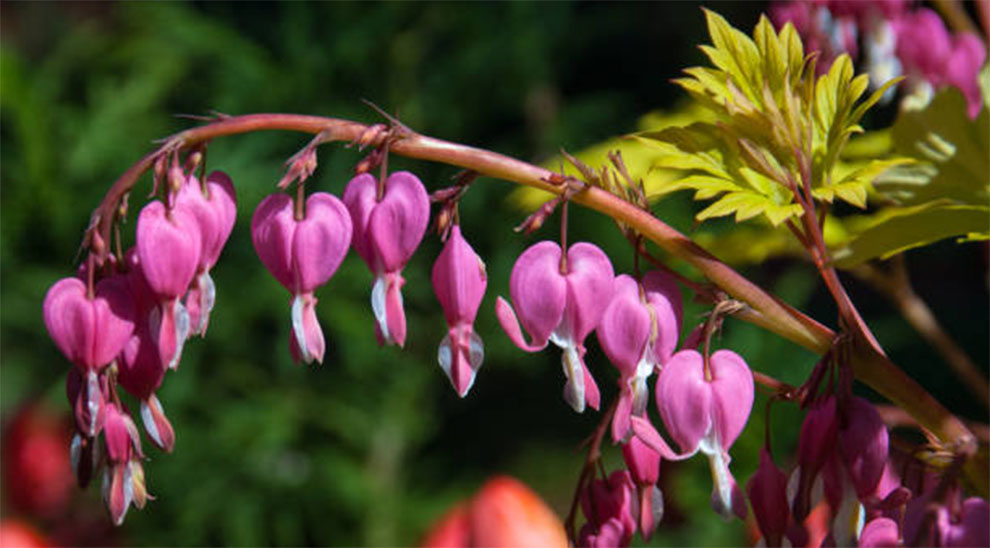
[[[715,7],[748,30],[765,6]],[[47,337],[41,301],[55,280],[74,271],[89,212],[111,182],[153,140],[194,123],[176,114],[282,111],[378,121],[363,98],[428,135],[543,161],[559,147],[600,142],[634,130],[652,109],[670,108],[680,94],[669,80],[703,62],[696,45],[706,41],[698,5],[681,2],[5,3],[2,9],[4,423],[31,401],[68,411],[69,364]],[[404,271],[404,351],[375,344],[371,277],[351,254],[318,292],[328,341],[324,364],[296,367],[287,351],[288,295],[256,259],[249,220],[274,190],[282,162],[307,140],[263,133],[209,148],[208,167],[226,171],[237,186],[239,217],[213,270],[218,294],[208,336],[186,346],[179,371],[159,391],[177,443],[171,455],[145,443],[156,500],[132,510],[119,529],[105,525],[92,486],[74,495],[63,515],[20,517],[72,543],[408,545],[496,473],[522,479],[566,514],[583,462],[578,445],[598,415],[576,415],[563,402],[557,352],[522,353],[491,313],[495,297],[507,294],[515,257],[537,239],[555,237],[555,222],[531,237],[512,232],[527,212],[507,203],[513,187],[501,181],[483,180],[463,200],[465,236],[489,273],[476,324],[487,355],[467,398],[456,396],[436,364],[445,325],[429,283],[440,249],[433,234]],[[360,157],[341,146],[322,147],[309,186],[339,194]],[[390,167],[415,171],[430,189],[456,173],[396,157]],[[147,178],[141,185],[150,188]],[[132,211],[139,207],[136,193]],[[684,196],[657,206],[659,216],[685,231],[692,230],[694,211]],[[610,221],[572,212],[572,241],[593,239],[617,271],[630,271],[632,254]],[[940,244],[912,252],[909,264],[919,292],[985,371],[985,247]],[[812,271],[772,261],[745,272],[832,324]],[[884,301],[855,282],[850,291],[895,362],[953,410],[986,419],[986,410]],[[685,330],[702,312],[688,303]],[[815,361],[739,322],[727,322],[720,343],[792,383]],[[597,343],[589,345],[589,364],[608,401],[616,391],[614,370]],[[756,465],[765,401],[758,395],[754,420],[733,451],[741,483]],[[774,445],[778,463],[788,465],[799,415],[776,409]],[[606,459],[614,468],[618,451],[609,449]],[[745,542],[741,523],[723,526],[708,508],[711,484],[702,458],[665,463],[663,476],[667,516],[653,544]],[[5,502],[3,514],[18,511]],[[88,525],[66,525],[77,522]]]

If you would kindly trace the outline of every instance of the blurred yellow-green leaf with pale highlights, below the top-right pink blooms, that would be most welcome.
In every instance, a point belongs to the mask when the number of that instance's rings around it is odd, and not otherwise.
[[[877,191],[903,205],[948,199],[990,203],[990,114],[974,121],[955,88],[940,92],[927,108],[902,112],[894,123],[894,151],[919,164],[898,167],[875,182]]]

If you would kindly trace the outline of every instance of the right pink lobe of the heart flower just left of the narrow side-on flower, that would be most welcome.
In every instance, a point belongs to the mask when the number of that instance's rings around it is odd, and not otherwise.
[[[430,198],[412,173],[400,171],[385,180],[385,196],[371,212],[368,235],[386,272],[401,269],[412,257],[430,221]]]

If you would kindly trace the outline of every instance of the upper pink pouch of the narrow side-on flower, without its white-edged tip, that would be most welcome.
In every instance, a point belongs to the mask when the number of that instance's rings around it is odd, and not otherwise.
[[[451,228],[447,243],[433,264],[431,280],[447,325],[474,323],[488,286],[488,275],[485,263],[461,235],[459,225]]]

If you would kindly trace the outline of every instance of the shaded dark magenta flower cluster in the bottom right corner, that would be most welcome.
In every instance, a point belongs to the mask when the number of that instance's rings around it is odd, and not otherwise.
[[[889,434],[863,398],[827,394],[809,405],[788,478],[768,448],[746,490],[767,546],[986,546],[986,499],[962,500]]]

